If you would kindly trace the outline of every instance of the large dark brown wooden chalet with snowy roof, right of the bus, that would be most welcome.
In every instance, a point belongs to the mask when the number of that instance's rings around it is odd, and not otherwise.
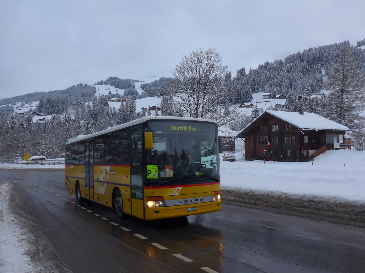
[[[326,150],[346,148],[348,130],[314,113],[266,110],[237,137],[245,141],[245,160],[300,162]]]

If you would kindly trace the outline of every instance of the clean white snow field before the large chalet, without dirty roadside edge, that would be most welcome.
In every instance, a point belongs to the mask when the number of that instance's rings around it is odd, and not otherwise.
[[[336,150],[312,162],[221,162],[222,187],[365,202],[365,151]]]

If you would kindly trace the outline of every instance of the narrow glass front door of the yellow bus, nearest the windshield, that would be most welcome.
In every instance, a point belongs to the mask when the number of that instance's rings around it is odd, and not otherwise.
[[[142,175],[142,126],[131,128],[132,215],[144,218]]]

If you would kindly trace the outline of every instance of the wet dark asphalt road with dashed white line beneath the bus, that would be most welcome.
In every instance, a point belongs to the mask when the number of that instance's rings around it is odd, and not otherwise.
[[[364,272],[365,223],[224,202],[160,221],[129,217],[64,188],[63,170],[0,170],[32,258],[58,272]]]

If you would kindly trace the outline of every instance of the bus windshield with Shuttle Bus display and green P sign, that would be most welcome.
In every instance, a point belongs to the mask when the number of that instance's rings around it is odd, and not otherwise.
[[[215,123],[154,120],[153,149],[146,150],[148,182],[209,178],[219,181],[217,127]]]

